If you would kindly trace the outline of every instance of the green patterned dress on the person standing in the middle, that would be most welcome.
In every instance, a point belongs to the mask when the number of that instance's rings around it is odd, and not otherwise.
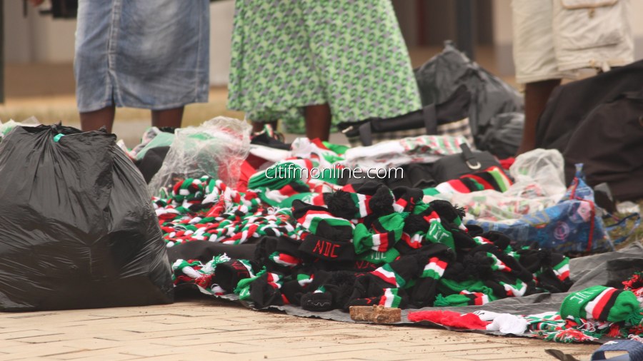
[[[322,103],[333,124],[422,107],[390,0],[236,0],[229,108],[303,133]]]

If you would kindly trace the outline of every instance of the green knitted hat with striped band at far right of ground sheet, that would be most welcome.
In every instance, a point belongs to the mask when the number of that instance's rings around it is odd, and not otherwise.
[[[592,286],[568,295],[560,306],[560,316],[608,322],[626,321],[638,325],[643,316],[637,296],[632,291]]]

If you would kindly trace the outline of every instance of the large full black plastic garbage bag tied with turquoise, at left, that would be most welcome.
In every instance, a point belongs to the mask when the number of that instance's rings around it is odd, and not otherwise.
[[[141,174],[103,131],[16,127],[0,143],[0,310],[173,301]]]

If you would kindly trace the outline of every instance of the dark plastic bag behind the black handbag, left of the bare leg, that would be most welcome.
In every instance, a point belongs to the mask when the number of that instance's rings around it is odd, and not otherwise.
[[[476,146],[482,150],[486,149],[482,134],[494,116],[524,109],[522,96],[516,89],[471,61],[450,41],[445,41],[442,53],[414,72],[423,106],[443,103],[459,86],[467,86],[472,95],[469,125]]]

